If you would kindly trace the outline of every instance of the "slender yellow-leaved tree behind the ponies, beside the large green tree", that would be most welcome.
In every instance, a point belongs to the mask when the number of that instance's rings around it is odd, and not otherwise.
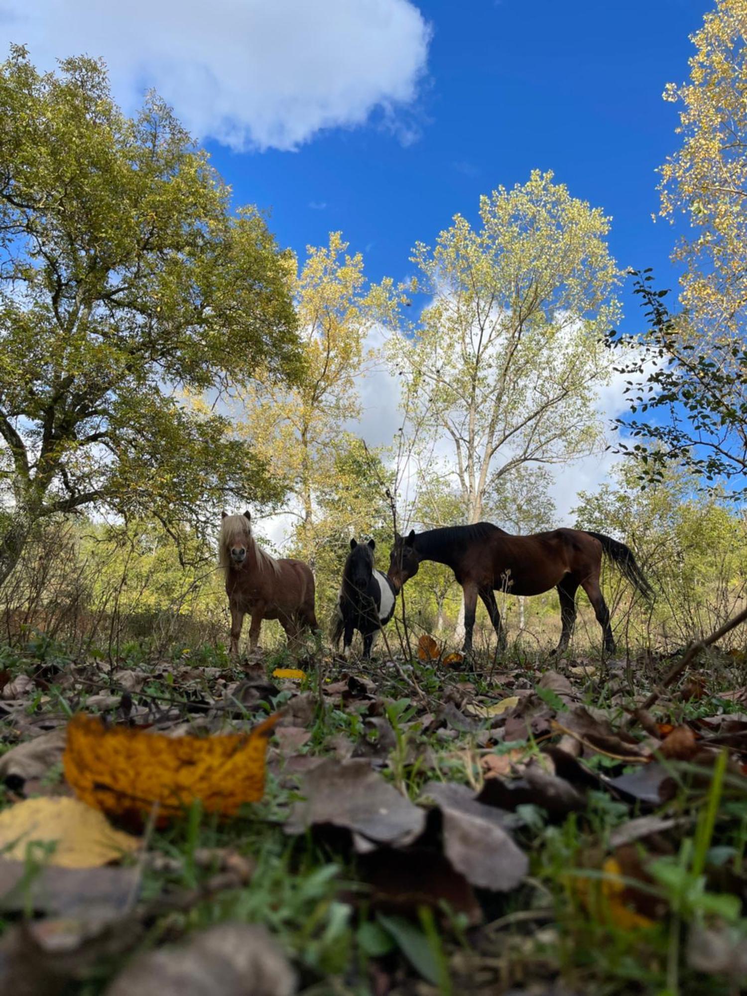
[[[378,456],[346,430],[361,414],[357,380],[373,363],[363,256],[332,232],[326,246],[308,248],[293,289],[304,373],[292,386],[258,376],[241,397],[241,430],[292,496],[294,552],[319,566],[326,548],[340,559],[350,536],[371,534],[385,515]]]

